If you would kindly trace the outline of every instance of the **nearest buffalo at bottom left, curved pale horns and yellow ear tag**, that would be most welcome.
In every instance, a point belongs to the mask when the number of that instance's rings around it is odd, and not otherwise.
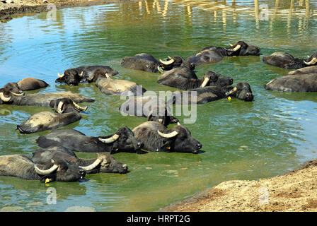
[[[60,158],[39,165],[25,155],[0,156],[0,176],[40,180],[40,182],[76,182],[85,177],[84,169]]]

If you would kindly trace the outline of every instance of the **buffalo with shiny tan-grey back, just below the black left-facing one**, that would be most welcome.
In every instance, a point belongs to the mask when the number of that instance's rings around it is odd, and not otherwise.
[[[142,85],[132,81],[112,79],[103,71],[96,71],[91,81],[95,81],[96,86],[105,95],[141,96],[146,92]]]

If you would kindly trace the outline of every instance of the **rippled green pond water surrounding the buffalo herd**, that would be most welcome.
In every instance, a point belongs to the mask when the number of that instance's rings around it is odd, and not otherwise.
[[[258,11],[255,6],[260,4],[267,4],[268,11]],[[134,128],[145,119],[123,117],[117,109],[124,100],[103,95],[94,84],[55,84],[57,72],[109,65],[120,72],[117,78],[167,91],[175,89],[157,84],[159,74],[124,69],[121,59],[141,52],[161,59],[186,58],[203,47],[239,40],[260,47],[263,54],[197,67],[199,77],[214,70],[231,76],[234,83],[246,81],[255,96],[253,102],[218,100],[197,106],[197,121],[186,126],[204,153],[118,153],[115,158],[129,166],[129,174],[93,174],[84,182],[45,186],[0,177],[0,209],[153,211],[226,180],[272,177],[316,158],[317,93],[265,90],[265,83],[289,70],[262,61],[276,51],[295,57],[316,52],[316,6],[314,1],[278,1],[277,7],[275,1],[130,1],[64,8],[57,11],[57,20],[39,13],[0,24],[0,86],[33,76],[50,87],[30,93],[71,90],[93,97],[96,102],[89,103],[83,119],[66,126],[89,136],[113,133],[121,126]],[[31,156],[37,150],[35,138],[50,131],[21,135],[16,125],[47,109],[0,106],[0,154]],[[178,118],[183,122],[187,117]],[[57,191],[56,204],[47,203],[49,187]]]

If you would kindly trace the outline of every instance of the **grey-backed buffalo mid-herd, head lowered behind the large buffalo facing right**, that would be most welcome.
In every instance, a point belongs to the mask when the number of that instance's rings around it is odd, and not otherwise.
[[[120,112],[146,117],[148,121],[160,121],[164,126],[178,122],[178,119],[171,114],[171,109],[166,101],[157,97],[130,98],[120,106]]]

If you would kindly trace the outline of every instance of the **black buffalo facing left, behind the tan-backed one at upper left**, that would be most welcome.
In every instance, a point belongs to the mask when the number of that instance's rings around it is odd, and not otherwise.
[[[103,74],[108,73],[109,76],[115,76],[117,71],[110,66],[80,66],[75,69],[67,69],[58,78],[55,83],[66,83],[67,85],[78,85],[80,82],[89,82],[95,75],[96,71],[103,71]]]

